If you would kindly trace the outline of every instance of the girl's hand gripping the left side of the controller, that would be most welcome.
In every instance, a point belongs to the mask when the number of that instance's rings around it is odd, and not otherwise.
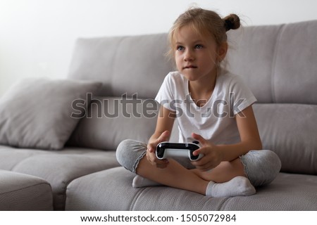
[[[162,141],[168,141],[170,137],[169,131],[164,131],[158,139],[151,141],[147,144],[147,160],[151,162],[151,165],[156,165],[156,167],[164,169],[168,165],[168,160],[159,160],[156,158],[155,150],[156,146]]]

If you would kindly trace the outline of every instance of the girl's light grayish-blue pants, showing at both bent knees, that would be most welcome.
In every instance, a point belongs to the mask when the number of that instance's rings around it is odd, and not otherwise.
[[[139,160],[146,153],[146,143],[128,139],[119,144],[116,157],[120,165],[136,173]],[[194,169],[187,158],[174,158],[174,160],[187,169]],[[240,156],[240,160],[244,165],[244,174],[253,186],[270,184],[280,172],[280,158],[271,150],[250,150],[249,153]]]

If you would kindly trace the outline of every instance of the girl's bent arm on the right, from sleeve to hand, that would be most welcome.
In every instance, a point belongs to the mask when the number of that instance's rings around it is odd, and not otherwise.
[[[240,155],[244,155],[249,150],[260,150],[262,143],[256,125],[256,119],[252,106],[245,108],[241,113],[235,116],[237,121],[237,128],[240,133],[240,143],[232,145],[213,145],[206,141],[198,134],[193,134],[193,138],[197,139],[201,143],[201,148],[196,150],[194,155],[203,153],[204,158],[197,162],[193,162],[193,165],[197,169],[211,169],[216,167],[222,161],[232,161],[238,158]]]

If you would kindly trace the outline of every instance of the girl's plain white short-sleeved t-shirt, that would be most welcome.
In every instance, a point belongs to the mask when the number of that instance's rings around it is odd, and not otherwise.
[[[155,100],[176,113],[180,142],[192,142],[192,133],[214,144],[240,141],[235,115],[256,101],[237,75],[222,70],[211,98],[202,107],[189,94],[189,81],[180,72],[170,72]]]

